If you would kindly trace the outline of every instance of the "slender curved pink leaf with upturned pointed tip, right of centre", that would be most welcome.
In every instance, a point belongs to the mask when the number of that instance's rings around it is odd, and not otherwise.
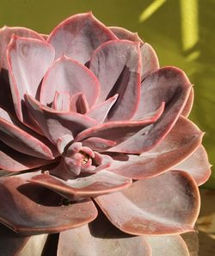
[[[164,103],[162,103],[154,113],[151,113],[151,116],[147,116],[142,120],[112,121],[99,124],[77,134],[76,140],[83,140],[89,137],[100,137],[101,139],[114,140],[115,142],[120,143],[131,137],[133,134],[136,134],[139,130],[149,127],[151,123],[157,122],[159,117],[163,114],[163,109]],[[128,148],[125,149],[125,152],[126,150],[128,150]]]

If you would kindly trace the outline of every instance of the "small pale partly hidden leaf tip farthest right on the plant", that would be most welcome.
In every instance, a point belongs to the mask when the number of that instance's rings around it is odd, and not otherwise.
[[[178,165],[171,167],[172,170],[188,172],[198,185],[204,184],[211,175],[211,167],[206,149],[200,145],[192,155],[181,161]]]

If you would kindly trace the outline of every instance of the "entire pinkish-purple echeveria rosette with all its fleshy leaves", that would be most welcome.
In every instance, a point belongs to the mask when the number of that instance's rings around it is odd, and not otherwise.
[[[91,13],[2,28],[0,68],[1,255],[188,255],[210,165],[184,72]]]

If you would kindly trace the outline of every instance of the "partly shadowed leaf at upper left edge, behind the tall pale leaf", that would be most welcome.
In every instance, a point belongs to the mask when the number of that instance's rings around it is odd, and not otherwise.
[[[13,34],[43,40],[40,34],[28,28],[9,28],[4,26],[0,29],[0,106],[3,109],[9,110],[10,113],[14,113],[15,109],[9,86],[8,59],[6,53]]]

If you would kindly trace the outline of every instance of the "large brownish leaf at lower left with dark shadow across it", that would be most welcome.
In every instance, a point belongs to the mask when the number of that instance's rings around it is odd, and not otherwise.
[[[22,234],[58,233],[91,222],[97,215],[94,203],[62,205],[61,197],[26,180],[35,173],[0,178],[1,222]]]

